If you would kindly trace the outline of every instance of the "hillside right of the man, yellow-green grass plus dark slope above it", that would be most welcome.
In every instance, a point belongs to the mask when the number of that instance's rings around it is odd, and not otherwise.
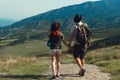
[[[110,73],[112,80],[119,80],[120,35],[93,40],[86,61],[100,66],[101,71]]]

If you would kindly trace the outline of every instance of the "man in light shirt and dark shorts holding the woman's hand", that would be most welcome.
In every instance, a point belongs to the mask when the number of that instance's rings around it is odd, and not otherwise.
[[[85,63],[84,57],[87,51],[87,47],[89,46],[90,38],[88,39],[89,41],[87,41],[86,43],[79,42],[76,38],[76,30],[78,27],[85,27],[86,32],[90,32],[90,31],[87,27],[87,24],[82,23],[81,19],[82,19],[82,16],[80,14],[75,15],[74,17],[75,25],[72,26],[71,31],[70,31],[69,46],[71,46],[72,41],[74,41],[73,56],[77,62],[77,65],[80,68],[79,75],[83,76],[85,73],[85,69],[83,68],[84,63]]]

